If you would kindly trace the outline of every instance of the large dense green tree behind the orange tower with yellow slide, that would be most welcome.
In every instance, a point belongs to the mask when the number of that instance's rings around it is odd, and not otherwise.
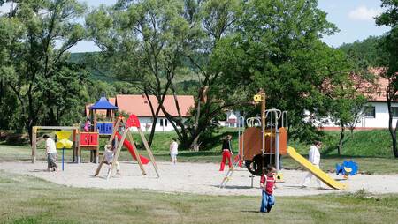
[[[320,41],[337,29],[317,2],[248,1],[241,32],[219,43],[217,52],[218,66],[228,74],[223,87],[237,79],[251,91],[263,88],[267,108],[288,111],[289,137],[309,141],[318,131],[303,122],[305,111],[327,116],[336,91],[330,85],[345,83],[350,71],[344,54]]]

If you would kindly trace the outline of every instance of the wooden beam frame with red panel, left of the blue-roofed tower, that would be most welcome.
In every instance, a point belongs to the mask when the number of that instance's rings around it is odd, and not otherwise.
[[[97,162],[99,157],[99,134],[98,132],[81,132],[79,126],[34,126],[32,128],[32,163],[36,161],[37,151],[37,134],[43,131],[69,131],[72,135],[72,150],[73,150],[73,162],[80,163],[81,161],[81,150],[86,149],[90,151],[90,162]],[[65,137],[62,135],[62,137]],[[59,138],[59,137],[58,137]],[[57,144],[65,138],[57,139]],[[67,147],[65,147],[67,148]]]

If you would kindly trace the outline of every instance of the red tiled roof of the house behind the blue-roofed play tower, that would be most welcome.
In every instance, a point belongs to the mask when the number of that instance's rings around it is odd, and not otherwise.
[[[157,99],[154,95],[149,95],[153,108],[157,109]],[[191,108],[195,106],[195,100],[192,95],[178,95],[177,101],[179,102],[181,116],[190,116]],[[149,101],[145,95],[117,95],[116,106],[119,111],[127,114],[134,114],[136,116],[152,116],[150,111]],[[178,116],[177,107],[172,95],[166,95],[164,101],[165,110],[172,116]],[[165,116],[162,111],[159,116]]]

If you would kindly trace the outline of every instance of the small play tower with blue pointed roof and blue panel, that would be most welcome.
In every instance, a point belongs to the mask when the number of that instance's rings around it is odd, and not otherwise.
[[[97,113],[97,112],[103,113]],[[113,132],[113,123],[115,122],[118,107],[112,105],[105,96],[89,107],[90,120],[93,121],[91,131],[97,131],[100,136],[110,136]]]

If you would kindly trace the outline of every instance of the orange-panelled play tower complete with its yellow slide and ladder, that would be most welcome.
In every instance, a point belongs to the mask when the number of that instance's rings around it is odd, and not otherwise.
[[[329,187],[337,190],[346,188],[345,184],[335,181],[330,175],[297,153],[295,148],[288,146],[287,111],[276,108],[266,109],[263,92],[256,94],[253,100],[256,104],[261,103],[261,117],[248,118],[248,128],[242,134],[239,133],[239,158],[252,175],[262,175],[267,165],[272,164],[277,170],[277,181],[282,181],[280,156],[287,154]],[[230,169],[227,172],[220,188],[226,186],[234,170]]]

